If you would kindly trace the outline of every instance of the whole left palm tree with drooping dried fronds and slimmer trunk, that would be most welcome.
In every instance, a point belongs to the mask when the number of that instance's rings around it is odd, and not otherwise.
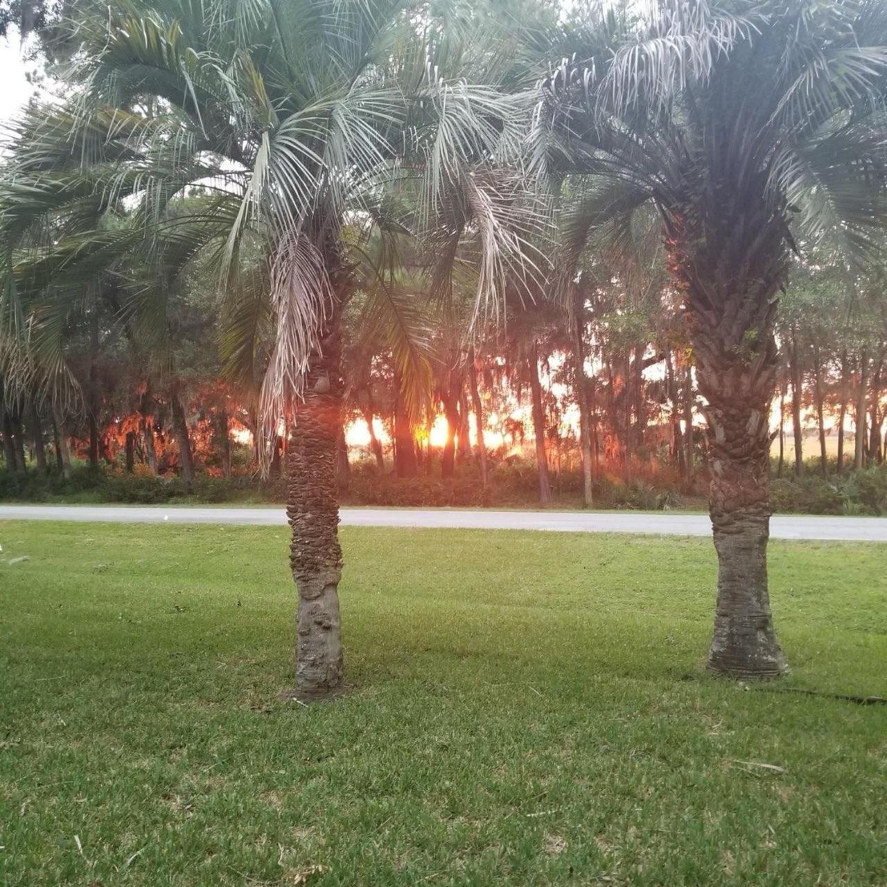
[[[142,285],[130,281],[133,315],[162,318],[178,271],[206,250],[221,268],[232,361],[255,362],[257,331],[271,314],[259,404],[269,436],[282,420],[291,429],[296,693],[334,694],[343,311],[367,287],[382,299],[393,293],[404,231],[456,247],[429,261],[438,279],[475,244],[479,305],[498,301],[512,270],[522,277],[528,216],[515,206],[529,183],[519,169],[502,172],[522,153],[531,111],[529,91],[515,90],[514,51],[472,4],[121,0],[78,4],[74,15],[82,44],[69,74],[73,98],[64,113],[23,128],[14,184],[49,195],[49,209],[24,200],[35,224],[47,211],[64,216],[66,197],[77,194],[99,209],[137,198],[141,226],[131,232],[142,234]],[[61,192],[52,178],[64,178]],[[213,199],[183,207],[196,187]],[[405,216],[404,194],[415,207]],[[125,239],[116,235],[115,246]],[[364,261],[373,239],[389,244],[383,263]],[[23,240],[12,225],[3,240],[7,280],[26,246],[39,256],[32,262],[52,261],[59,247]],[[99,241],[98,228],[78,231],[78,255],[98,254],[98,263]],[[51,282],[44,276],[32,290],[44,294]],[[10,318],[21,315],[14,301]],[[19,333],[4,325],[5,350],[20,347]]]

